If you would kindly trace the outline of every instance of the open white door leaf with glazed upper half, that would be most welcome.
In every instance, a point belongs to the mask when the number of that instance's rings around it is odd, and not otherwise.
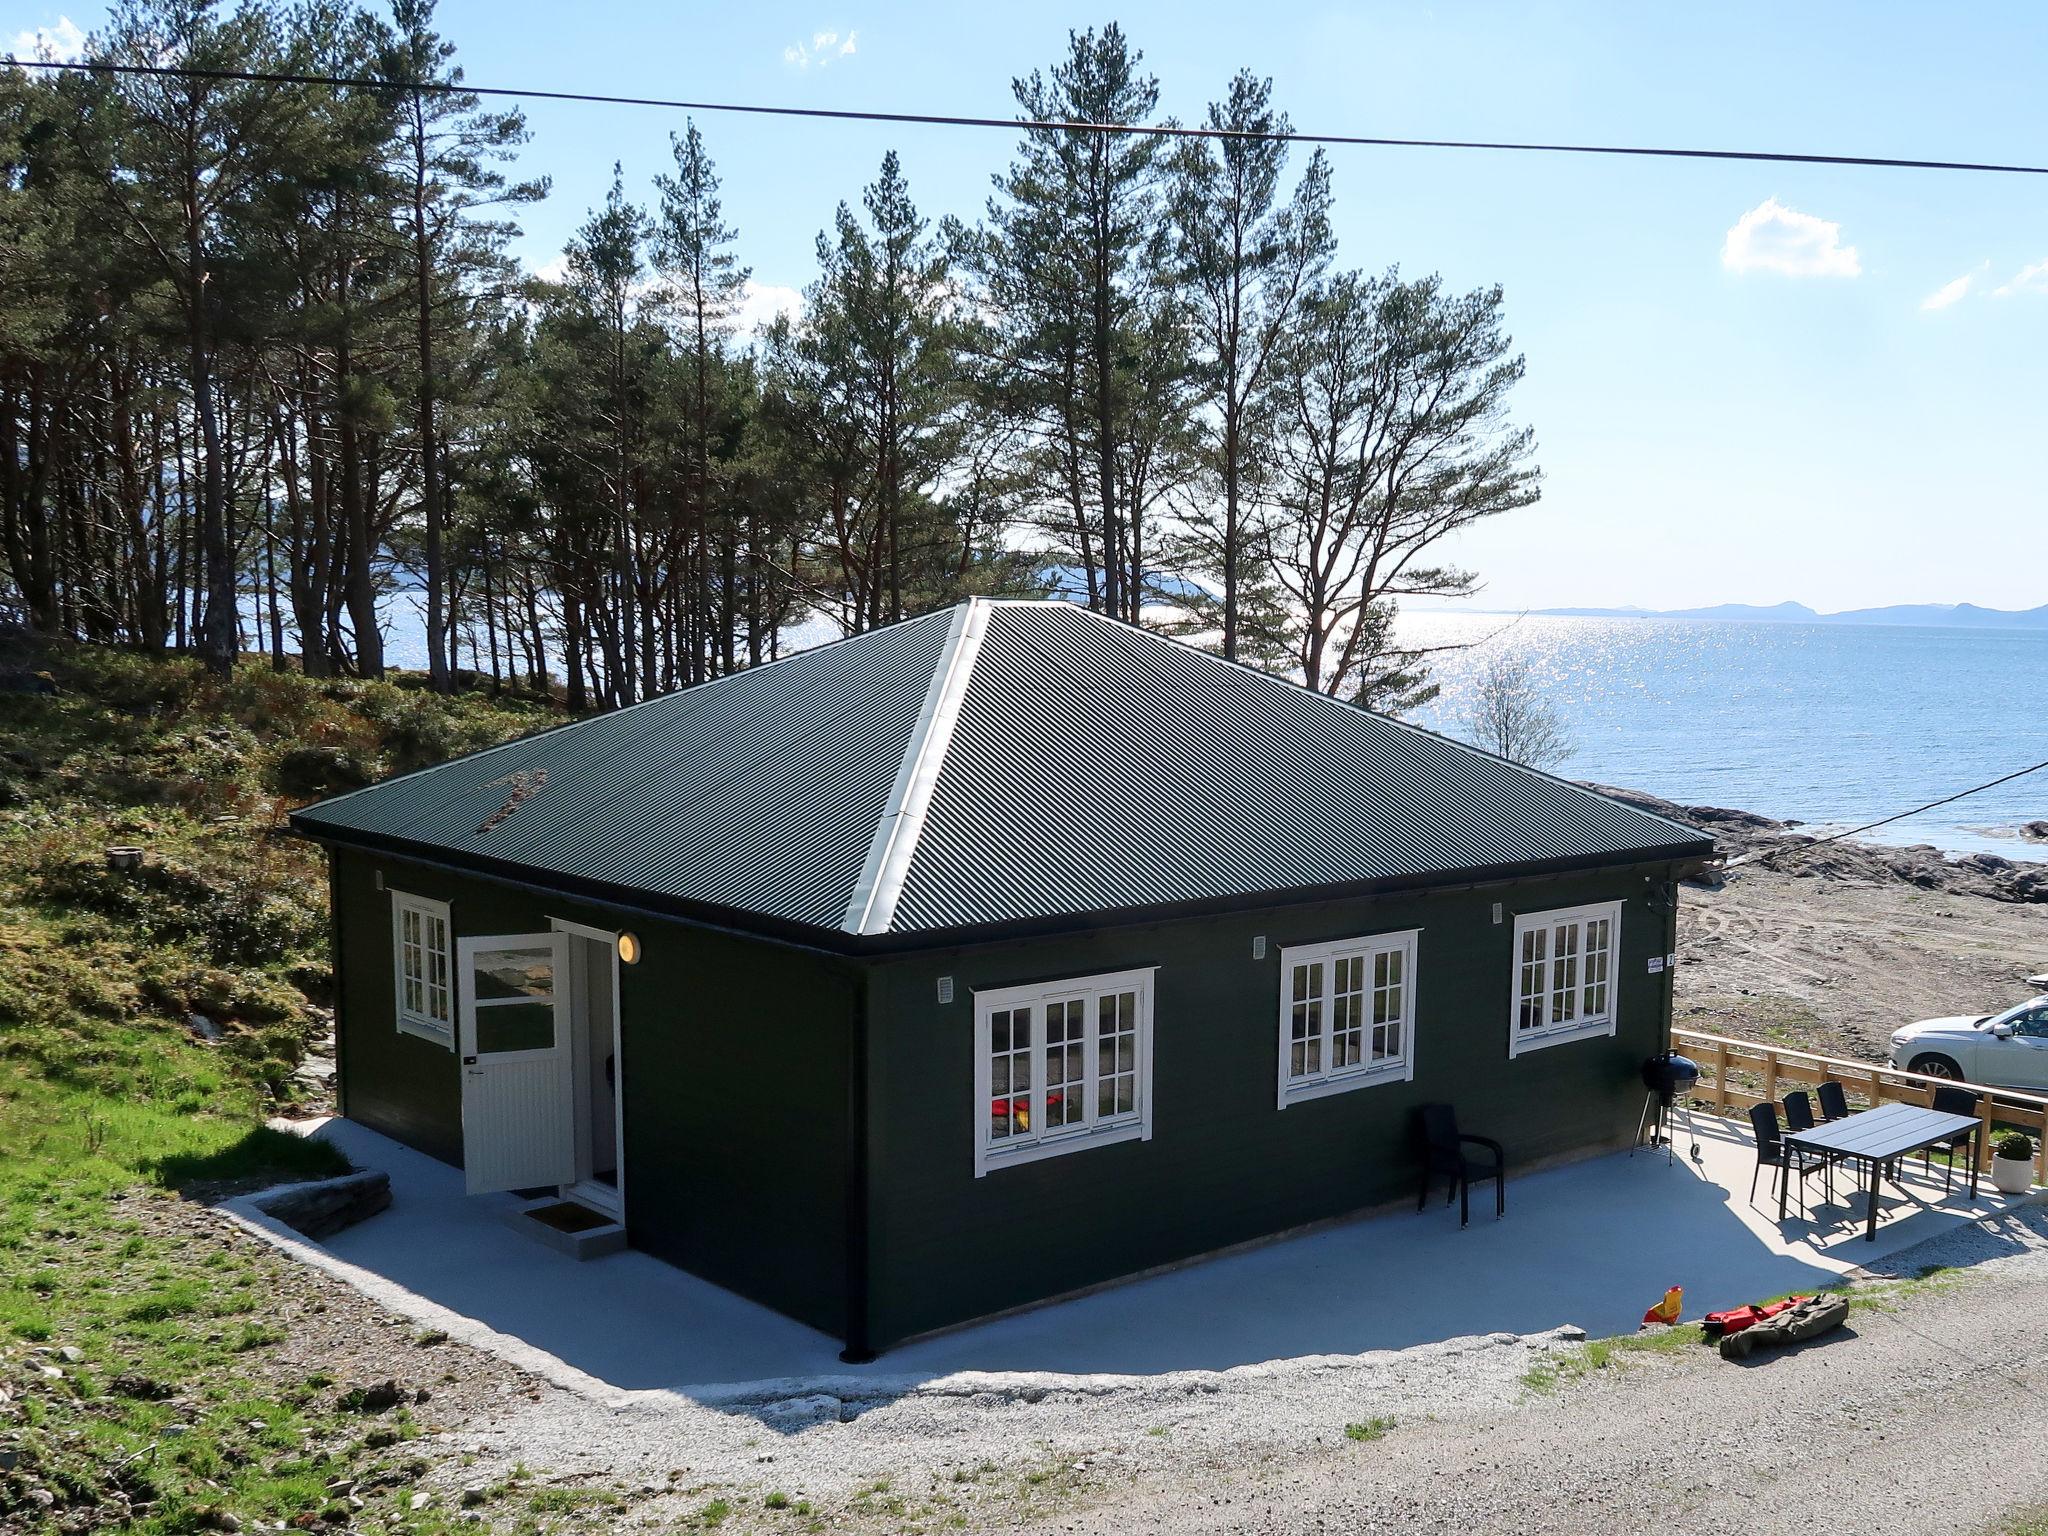
[[[469,1194],[575,1180],[567,934],[457,944]]]

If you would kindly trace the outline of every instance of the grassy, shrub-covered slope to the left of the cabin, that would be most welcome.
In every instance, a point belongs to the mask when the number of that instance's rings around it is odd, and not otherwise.
[[[313,795],[287,795],[287,758],[334,748],[381,774],[547,707],[14,639],[0,662],[59,688],[0,696],[0,1352],[82,1356],[12,1403],[0,1528],[453,1530],[410,1509],[403,1409],[365,1436],[326,1376],[274,1378],[291,1262],[170,1202],[346,1167],[264,1126],[332,995],[324,862],[283,829]],[[143,868],[109,870],[115,842]],[[377,1497],[336,1507],[340,1483]]]

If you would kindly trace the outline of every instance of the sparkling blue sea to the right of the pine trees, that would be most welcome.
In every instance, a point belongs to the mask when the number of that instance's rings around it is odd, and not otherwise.
[[[1563,717],[1556,772],[1837,831],[2048,760],[2048,631],[1403,614],[1462,735],[1475,678],[1513,655]],[[1894,821],[1872,842],[2048,860],[2048,770]]]

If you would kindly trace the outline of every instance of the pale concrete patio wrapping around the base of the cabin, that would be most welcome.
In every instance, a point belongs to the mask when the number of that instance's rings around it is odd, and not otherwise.
[[[422,1319],[446,1309],[608,1386],[682,1395],[813,1374],[1155,1374],[1561,1323],[1624,1333],[1665,1286],[1683,1286],[1698,1317],[1827,1284],[2011,1204],[1989,1180],[1974,1202],[1960,1178],[1944,1196],[1939,1165],[1929,1182],[1911,1163],[1905,1190],[1886,1190],[1878,1241],[1862,1237],[1847,1178],[1837,1206],[1780,1231],[1767,1171],[1747,1198],[1747,1130],[1704,1114],[1694,1126],[1698,1163],[1681,1128],[1675,1161],[1616,1153],[1511,1180],[1505,1221],[1491,1217],[1491,1190],[1464,1231],[1440,1204],[1348,1221],[920,1339],[864,1368],[840,1364],[838,1339],[645,1253],[578,1264],[506,1223],[512,1196],[465,1196],[457,1169],[358,1124],[326,1120],[311,1135],[391,1176],[391,1208],[322,1245],[385,1305]],[[1819,1180],[1808,1194],[1821,1198]]]

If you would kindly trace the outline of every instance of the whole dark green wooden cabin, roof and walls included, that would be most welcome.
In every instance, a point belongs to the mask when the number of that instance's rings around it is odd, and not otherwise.
[[[981,600],[293,823],[332,852],[346,1116],[848,1358],[1413,1198],[1423,1102],[1513,1171],[1626,1145],[1712,852]]]

